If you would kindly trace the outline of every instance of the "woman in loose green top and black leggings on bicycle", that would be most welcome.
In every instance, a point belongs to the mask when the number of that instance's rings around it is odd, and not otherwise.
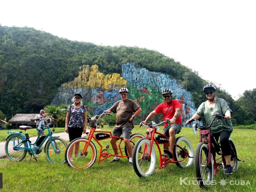
[[[198,119],[200,120],[200,117],[203,118],[203,124],[205,126],[209,126],[211,123],[211,119],[215,116],[215,113],[219,113],[219,115],[225,116],[225,119],[219,120],[218,122],[213,122],[211,126],[211,133],[215,137],[216,141],[219,140],[220,137],[220,146],[222,150],[222,154],[226,160],[227,164],[227,170],[226,174],[231,175],[233,172],[230,158],[231,158],[231,148],[229,144],[229,137],[233,131],[233,126],[231,122],[231,114],[233,113],[231,109],[228,107],[227,103],[224,99],[216,98],[215,92],[216,88],[211,85],[207,84],[203,88],[203,92],[205,93],[205,96],[207,98],[207,101],[201,103],[199,108],[197,109],[197,112],[192,116],[191,119]],[[189,121],[186,122],[186,125],[189,124]]]

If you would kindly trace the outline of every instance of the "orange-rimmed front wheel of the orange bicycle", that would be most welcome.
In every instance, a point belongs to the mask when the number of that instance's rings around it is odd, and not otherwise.
[[[83,151],[85,146],[88,146],[86,151]],[[73,168],[89,168],[91,167],[97,156],[97,150],[92,142],[88,139],[77,138],[71,141],[66,148],[66,162]]]

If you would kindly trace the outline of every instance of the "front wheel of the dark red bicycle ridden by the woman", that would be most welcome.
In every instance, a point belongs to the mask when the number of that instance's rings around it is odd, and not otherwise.
[[[209,162],[208,147],[204,143],[199,143],[195,147],[195,175],[201,188],[211,184],[213,180],[213,159]]]

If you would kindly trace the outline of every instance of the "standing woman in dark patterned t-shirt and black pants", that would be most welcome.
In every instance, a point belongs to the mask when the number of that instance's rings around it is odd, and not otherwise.
[[[86,132],[86,108],[82,105],[82,94],[76,92],[73,95],[74,104],[69,105],[67,108],[67,115],[65,121],[65,132],[68,133],[69,142],[76,138],[80,138],[82,133]],[[77,155],[79,143],[75,144],[74,156]],[[70,149],[70,160],[72,161],[73,148]]]

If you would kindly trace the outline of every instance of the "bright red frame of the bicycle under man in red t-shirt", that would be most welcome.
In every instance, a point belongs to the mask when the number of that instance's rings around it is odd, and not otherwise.
[[[151,128],[152,127],[152,128]],[[168,141],[169,141],[169,138],[167,137],[167,136],[165,136],[165,135],[163,135],[162,133],[159,133],[159,132],[157,132],[156,131],[156,127],[154,127],[154,126],[150,126],[150,128],[147,128],[147,135],[146,135],[146,139],[148,139],[148,140],[150,140],[151,141],[151,143],[150,143],[150,149],[149,149],[149,153],[148,153],[148,157],[150,158],[151,157],[151,152],[152,152],[152,147],[153,147],[153,143],[155,142],[155,144],[157,145],[157,148],[158,148],[158,151],[159,151],[159,155],[160,155],[160,166],[159,166],[159,168],[161,168],[163,165],[165,165],[165,164],[167,164],[167,163],[177,163],[177,162],[182,162],[182,161],[184,161],[186,158],[187,158],[187,156],[188,156],[188,152],[186,151],[186,150],[184,150],[184,152],[185,152],[185,157],[182,159],[182,160],[180,160],[180,161],[175,161],[175,160],[171,160],[171,159],[168,159],[168,157],[162,157],[162,153],[161,153],[161,149],[160,149],[160,144],[168,144],[169,145],[169,142],[168,143],[159,143],[156,139],[155,139],[155,134],[158,134],[158,135],[160,135],[160,136],[163,136],[163,137],[165,137],[166,139],[168,139]],[[183,147],[181,147],[181,146],[179,146],[179,145],[177,145],[177,144],[175,144],[174,145],[175,147],[177,146],[177,147],[180,147],[180,148],[182,148],[183,149]],[[142,153],[142,155],[145,155],[145,151],[146,151],[146,148],[145,148],[146,146],[144,146],[144,149],[143,149],[143,153]],[[174,151],[173,151],[173,154],[174,154]],[[174,158],[173,158],[174,159]]]

